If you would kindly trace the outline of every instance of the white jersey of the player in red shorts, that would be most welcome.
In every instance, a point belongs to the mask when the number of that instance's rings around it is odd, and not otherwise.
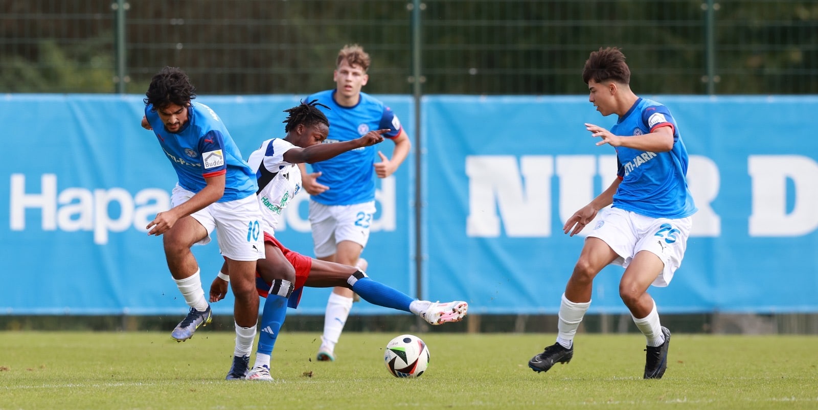
[[[264,232],[270,235],[275,235],[281,212],[301,191],[301,170],[284,160],[284,153],[294,147],[281,138],[268,139],[247,160],[250,169],[256,172],[256,198],[263,214]]]

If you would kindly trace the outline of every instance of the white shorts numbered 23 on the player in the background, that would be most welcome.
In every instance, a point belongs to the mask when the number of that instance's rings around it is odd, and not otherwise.
[[[340,241],[366,247],[374,214],[374,200],[355,205],[323,205],[310,200],[309,222],[316,258],[335,255]]]

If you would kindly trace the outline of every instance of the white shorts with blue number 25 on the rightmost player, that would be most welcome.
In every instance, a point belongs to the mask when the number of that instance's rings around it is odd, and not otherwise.
[[[640,250],[648,250],[662,259],[664,269],[654,280],[653,286],[667,286],[673,273],[681,266],[685,256],[687,237],[690,235],[691,218],[650,218],[618,208],[603,208],[596,217],[588,237],[605,241],[619,257],[613,264],[627,268]]]

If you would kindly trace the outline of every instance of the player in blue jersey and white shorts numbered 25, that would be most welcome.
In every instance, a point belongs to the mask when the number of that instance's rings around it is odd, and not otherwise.
[[[687,150],[666,106],[631,91],[631,71],[616,47],[591,52],[582,70],[589,101],[602,115],[618,115],[610,130],[585,124],[597,146],[613,146],[617,178],[574,213],[563,230],[571,236],[595,221],[560,303],[556,343],[529,362],[535,372],[573,358],[573,338],[591,304],[594,277],[609,264],[625,268],[619,296],[645,334],[645,379],[667,368],[670,331],[659,322],[648,287],[667,286],[681,265],[696,212],[687,187]],[[612,205],[608,207],[608,205]],[[596,217],[596,219],[595,219]]]

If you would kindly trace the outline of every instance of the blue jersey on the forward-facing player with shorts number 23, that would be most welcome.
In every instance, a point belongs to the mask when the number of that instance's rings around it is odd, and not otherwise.
[[[318,100],[329,106],[324,110],[330,120],[330,134],[325,144],[350,141],[375,129],[389,128],[384,137],[394,138],[401,133],[401,123],[389,107],[365,92],[356,106],[345,107],[335,103],[335,90],[317,92],[305,101]],[[375,146],[363,146],[341,155],[312,164],[313,172],[321,172],[317,182],[330,189],[312,200],[324,205],[353,205],[375,200]],[[380,159],[378,159],[380,161]]]

